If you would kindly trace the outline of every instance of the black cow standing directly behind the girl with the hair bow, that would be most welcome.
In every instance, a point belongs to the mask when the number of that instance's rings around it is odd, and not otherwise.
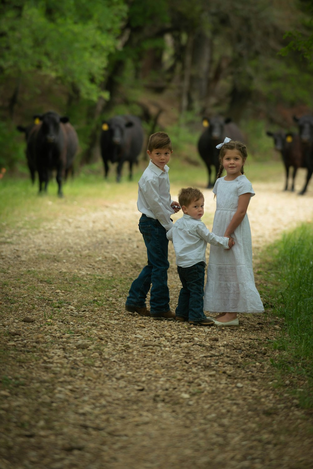
[[[205,129],[198,141],[198,151],[208,168],[208,187],[213,187],[214,182],[211,182],[211,166],[215,167],[215,179],[219,170],[219,150],[216,148],[216,145],[224,142],[225,137],[229,137],[232,140],[240,140],[241,142],[244,142],[244,137],[231,119],[223,119],[219,116],[210,119],[204,117],[202,124]]]

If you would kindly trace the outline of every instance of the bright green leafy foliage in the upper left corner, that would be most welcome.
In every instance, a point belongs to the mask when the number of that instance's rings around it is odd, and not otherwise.
[[[97,100],[127,11],[122,0],[15,1],[1,10],[3,78],[37,70]]]

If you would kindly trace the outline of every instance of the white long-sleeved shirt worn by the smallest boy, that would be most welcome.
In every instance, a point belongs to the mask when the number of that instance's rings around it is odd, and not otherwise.
[[[203,221],[195,220],[185,213],[173,224],[166,237],[173,242],[176,264],[180,267],[191,267],[198,262],[206,262],[205,250],[208,242],[229,249],[229,238],[216,236]]]

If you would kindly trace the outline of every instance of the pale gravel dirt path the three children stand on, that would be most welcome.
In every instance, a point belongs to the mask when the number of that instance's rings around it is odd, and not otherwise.
[[[281,187],[253,184],[254,253],[312,220],[312,189]],[[311,468],[312,416],[289,392],[301,382],[278,386],[269,362],[278,318],[201,328],[125,313],[146,259],[135,197],[1,236],[0,468]],[[172,248],[170,262],[174,309]]]

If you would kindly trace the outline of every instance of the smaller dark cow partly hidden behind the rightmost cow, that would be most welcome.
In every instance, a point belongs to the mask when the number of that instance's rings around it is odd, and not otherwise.
[[[282,155],[283,164],[286,170],[286,183],[284,190],[288,190],[289,169],[291,166],[293,167],[291,190],[294,190],[297,170],[298,168],[305,167],[300,137],[297,134],[291,132],[286,133],[282,130],[278,132],[268,131],[266,134],[273,138],[275,150],[279,151]]]

